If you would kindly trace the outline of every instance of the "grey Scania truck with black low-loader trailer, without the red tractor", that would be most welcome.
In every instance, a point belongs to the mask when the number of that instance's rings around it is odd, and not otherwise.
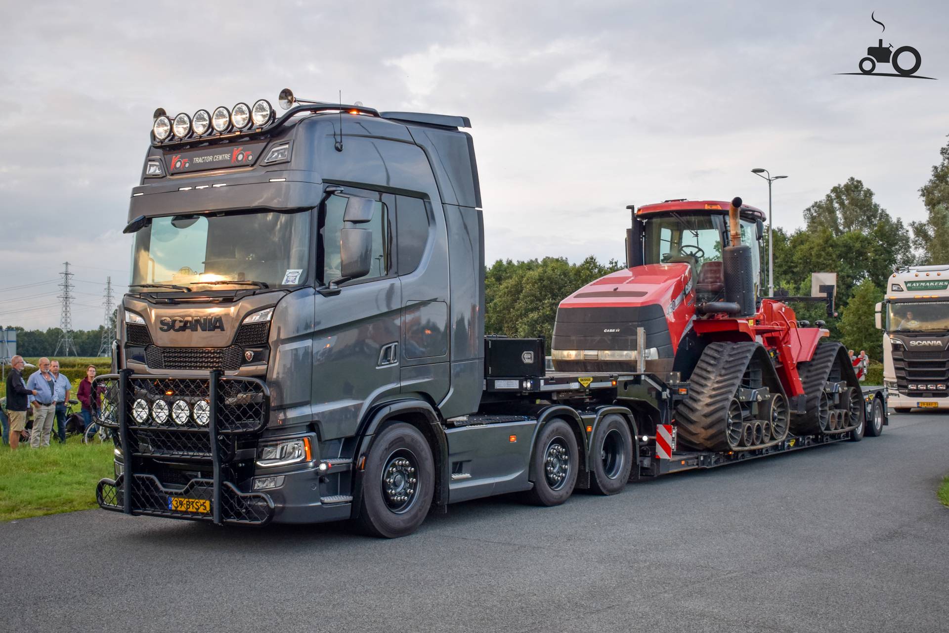
[[[467,119],[280,104],[156,111],[96,380],[102,508],[396,537],[458,501],[553,506],[842,438],[673,453],[678,373],[550,372],[543,339],[485,336]]]

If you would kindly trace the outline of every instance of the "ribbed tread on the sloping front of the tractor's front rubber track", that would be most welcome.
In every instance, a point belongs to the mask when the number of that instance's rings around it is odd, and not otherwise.
[[[699,451],[727,451],[725,422],[745,369],[758,344],[706,345],[689,379],[689,395],[679,405],[679,442]]]

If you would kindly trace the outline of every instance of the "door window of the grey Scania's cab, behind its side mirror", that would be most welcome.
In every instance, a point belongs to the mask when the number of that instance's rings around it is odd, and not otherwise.
[[[372,219],[359,225],[359,228],[372,232],[372,268],[364,277],[354,281],[366,281],[385,277],[393,270],[392,262],[392,222],[388,208],[381,202],[373,205]],[[342,195],[330,195],[326,200],[326,219],[320,231],[323,250],[323,283],[328,284],[342,276],[340,257],[343,216],[346,210],[346,198]]]

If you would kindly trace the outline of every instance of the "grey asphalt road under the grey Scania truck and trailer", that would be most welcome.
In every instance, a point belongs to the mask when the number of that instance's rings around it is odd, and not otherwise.
[[[89,511],[0,525],[0,631],[947,631],[949,415],[881,438],[452,506],[395,541]]]

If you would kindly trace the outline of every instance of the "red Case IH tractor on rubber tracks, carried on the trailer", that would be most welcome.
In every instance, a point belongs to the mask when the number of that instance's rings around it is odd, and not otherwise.
[[[822,322],[757,296],[763,219],[737,197],[640,207],[629,268],[561,302],[554,368],[688,382],[673,419],[679,444],[698,451],[857,428],[864,396],[844,345],[826,339]]]

